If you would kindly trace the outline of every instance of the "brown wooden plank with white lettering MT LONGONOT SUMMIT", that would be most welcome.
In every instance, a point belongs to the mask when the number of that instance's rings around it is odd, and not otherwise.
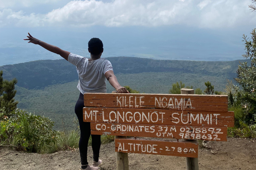
[[[84,107],[84,122],[233,127],[234,112]]]

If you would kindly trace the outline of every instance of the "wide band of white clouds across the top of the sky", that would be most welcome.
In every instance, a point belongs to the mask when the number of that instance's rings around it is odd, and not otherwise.
[[[0,27],[158,27],[178,24],[226,28],[244,23],[255,25],[256,15],[249,10],[249,4],[250,0],[70,1],[47,14],[28,15],[23,11],[3,9],[0,11]]]

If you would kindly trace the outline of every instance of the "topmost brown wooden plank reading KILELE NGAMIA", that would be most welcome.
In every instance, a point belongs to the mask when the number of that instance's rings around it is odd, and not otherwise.
[[[85,93],[86,107],[228,111],[227,95]]]

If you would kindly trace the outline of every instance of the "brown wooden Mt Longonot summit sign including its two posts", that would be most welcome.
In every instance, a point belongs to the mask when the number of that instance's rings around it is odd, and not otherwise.
[[[83,119],[91,122],[91,134],[115,135],[117,170],[129,169],[128,153],[183,156],[187,170],[198,170],[196,140],[227,141],[234,112],[228,111],[227,95],[181,91],[184,94],[85,93]]]

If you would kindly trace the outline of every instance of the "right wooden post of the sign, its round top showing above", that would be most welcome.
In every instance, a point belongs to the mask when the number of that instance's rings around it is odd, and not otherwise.
[[[194,89],[182,88],[182,89],[180,89],[180,93],[181,94],[194,94]],[[197,142],[197,140],[190,140],[190,139],[185,139],[185,140],[190,141],[190,142]],[[187,163],[187,170],[199,170],[198,158],[186,157],[186,163]]]

